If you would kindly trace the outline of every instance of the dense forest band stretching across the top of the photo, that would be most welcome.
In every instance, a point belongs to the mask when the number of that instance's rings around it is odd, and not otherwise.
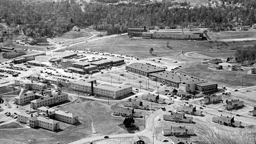
[[[233,0],[234,1],[234,0]],[[240,2],[241,0],[235,0]],[[228,1],[229,2],[229,1]],[[126,32],[127,28],[141,26],[176,27],[199,25],[201,22],[234,23],[256,22],[256,3],[246,1],[245,7],[224,6],[224,8],[171,8],[171,1],[154,4],[105,4],[74,1],[60,2],[21,2],[1,0],[0,19],[7,24],[19,24],[26,35],[36,32],[42,36],[53,36],[70,30],[74,25],[94,25],[98,30],[106,30],[108,34]],[[143,2],[142,2],[143,3]],[[231,3],[231,2],[230,2]],[[180,5],[188,5],[186,2]],[[250,15],[249,15],[250,14]],[[248,20],[247,20],[248,18]]]

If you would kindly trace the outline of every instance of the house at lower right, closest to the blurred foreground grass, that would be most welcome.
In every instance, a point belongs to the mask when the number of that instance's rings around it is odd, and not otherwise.
[[[226,126],[236,126],[236,127],[240,127],[242,122],[240,121],[236,121],[233,118],[230,118],[228,116],[220,116],[220,117],[213,117],[212,118],[212,122],[217,122],[218,124],[224,124]]]

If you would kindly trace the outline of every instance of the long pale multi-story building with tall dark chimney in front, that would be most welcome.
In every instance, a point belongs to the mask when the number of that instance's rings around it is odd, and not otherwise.
[[[89,80],[89,79],[88,79]],[[91,83],[89,83],[91,82]],[[71,83],[71,88],[80,92],[86,92],[89,94],[97,94],[100,96],[106,96],[110,98],[118,98],[132,92],[132,86],[121,85],[121,86],[106,86],[102,84],[95,84],[96,80],[89,81],[77,81]]]

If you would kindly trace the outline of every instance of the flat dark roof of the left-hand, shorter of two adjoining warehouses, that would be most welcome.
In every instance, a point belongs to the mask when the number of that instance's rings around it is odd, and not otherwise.
[[[150,66],[148,64],[143,64],[143,63],[134,63],[134,64],[130,64],[126,67],[141,70],[141,71],[146,72],[146,73],[165,71],[165,69],[157,68],[155,66]]]

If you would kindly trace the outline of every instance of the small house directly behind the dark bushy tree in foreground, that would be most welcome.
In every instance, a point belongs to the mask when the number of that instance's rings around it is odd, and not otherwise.
[[[133,108],[120,108],[120,109],[116,109],[114,110],[113,115],[116,116],[128,116],[128,117],[140,117],[141,116],[141,112],[136,112],[134,111]]]

